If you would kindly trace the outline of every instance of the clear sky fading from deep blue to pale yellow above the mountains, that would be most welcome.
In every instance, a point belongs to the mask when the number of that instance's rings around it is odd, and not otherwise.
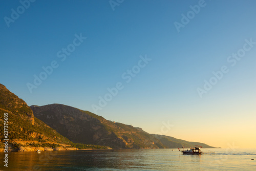
[[[33,1],[0,2],[0,81],[28,105],[256,147],[256,1]]]

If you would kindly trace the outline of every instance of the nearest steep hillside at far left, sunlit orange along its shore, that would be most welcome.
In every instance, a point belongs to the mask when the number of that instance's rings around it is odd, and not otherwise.
[[[6,114],[8,113],[8,114]],[[14,151],[35,150],[36,147],[69,148],[72,142],[58,134],[50,126],[35,118],[27,103],[0,84],[0,125],[4,131],[4,114],[8,115],[9,148]],[[5,124],[5,125],[6,125]],[[6,136],[6,135],[5,135]],[[4,134],[0,134],[3,150]],[[26,147],[30,149],[26,149]],[[44,150],[44,149],[42,149]]]

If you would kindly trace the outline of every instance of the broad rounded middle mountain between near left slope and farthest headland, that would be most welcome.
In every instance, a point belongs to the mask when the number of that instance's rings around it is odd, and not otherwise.
[[[131,125],[115,123],[63,104],[32,105],[35,117],[76,143],[108,145],[113,148],[164,148],[154,136]]]

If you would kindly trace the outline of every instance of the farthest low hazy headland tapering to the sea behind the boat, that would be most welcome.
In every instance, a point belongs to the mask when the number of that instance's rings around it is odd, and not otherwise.
[[[189,142],[181,139],[177,139],[174,137],[169,137],[165,135],[156,135],[156,134],[151,134],[155,138],[157,138],[162,144],[164,144],[168,148],[182,148],[184,147],[195,147],[195,145],[202,146],[203,148],[215,148],[213,146],[209,146],[207,144],[201,143],[201,142]]]

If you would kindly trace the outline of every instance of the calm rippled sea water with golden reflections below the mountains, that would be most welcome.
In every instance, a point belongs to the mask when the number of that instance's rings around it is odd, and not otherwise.
[[[215,154],[183,155],[178,149],[13,152],[8,168],[0,153],[0,170],[256,170],[255,148],[209,150]]]

